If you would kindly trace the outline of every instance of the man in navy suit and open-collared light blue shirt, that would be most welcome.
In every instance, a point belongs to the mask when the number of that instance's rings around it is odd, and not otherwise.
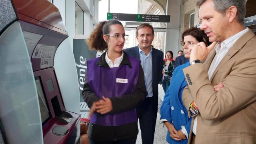
[[[158,108],[158,83],[162,80],[164,53],[152,48],[154,29],[150,24],[141,24],[136,31],[139,45],[124,49],[129,56],[140,59],[148,95],[137,107],[143,144],[153,144]]]

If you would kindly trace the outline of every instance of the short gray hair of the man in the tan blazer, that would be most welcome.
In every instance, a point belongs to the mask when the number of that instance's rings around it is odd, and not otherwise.
[[[200,8],[200,6],[206,2],[207,0],[198,0],[196,2],[196,6]],[[225,15],[226,10],[230,8],[230,6],[235,6],[237,8],[236,18],[238,22],[244,24],[244,17],[246,14],[246,2],[245,0],[212,0],[214,3],[214,10],[220,12]]]

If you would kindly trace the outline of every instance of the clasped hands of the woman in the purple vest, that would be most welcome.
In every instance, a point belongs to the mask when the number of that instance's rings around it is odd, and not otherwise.
[[[95,104],[96,112],[100,114],[106,114],[110,112],[113,107],[112,107],[112,102],[109,98],[105,98],[102,96],[103,100],[97,101]]]

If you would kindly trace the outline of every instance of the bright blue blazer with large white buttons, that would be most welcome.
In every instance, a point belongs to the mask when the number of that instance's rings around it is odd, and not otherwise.
[[[166,119],[168,122],[174,125],[174,128],[178,131],[184,126],[189,135],[190,125],[192,118],[188,117],[188,111],[182,101],[182,92],[188,85],[183,74],[183,68],[190,66],[190,63],[182,64],[178,66],[172,75],[171,84],[165,93],[164,101],[160,108],[160,120]],[[170,144],[187,144],[188,139],[182,141],[176,141],[170,137],[169,131],[167,131],[166,141]]]

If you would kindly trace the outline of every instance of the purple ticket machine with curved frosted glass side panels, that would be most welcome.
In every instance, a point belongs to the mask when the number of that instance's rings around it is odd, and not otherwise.
[[[69,95],[77,103],[67,102],[58,79],[65,82],[68,75],[58,76],[54,64],[67,37],[58,8],[48,0],[0,0],[0,143],[77,142],[78,87]]]

